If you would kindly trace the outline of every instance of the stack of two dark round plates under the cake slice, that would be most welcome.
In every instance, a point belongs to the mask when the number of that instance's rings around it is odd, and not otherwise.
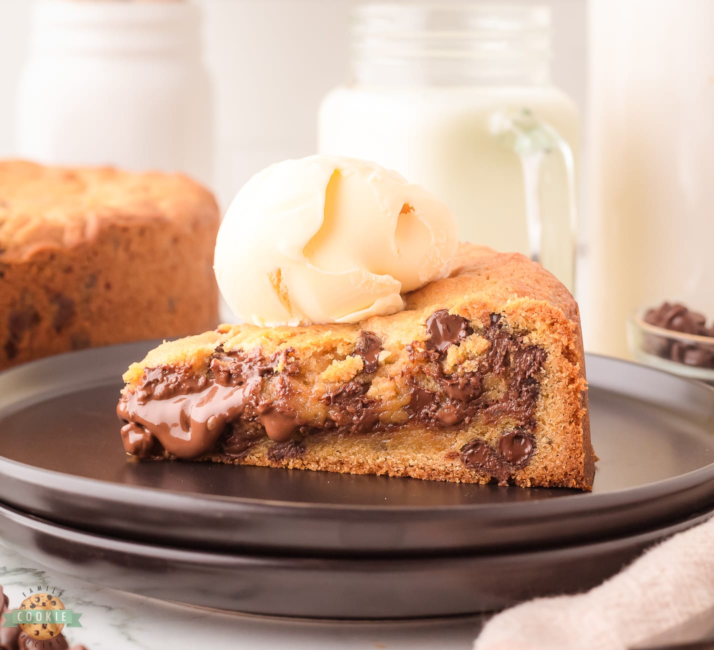
[[[0,534],[117,589],[256,614],[398,618],[580,591],[714,510],[714,389],[591,356],[592,494],[134,462],[115,407],[154,344],[0,374]]]

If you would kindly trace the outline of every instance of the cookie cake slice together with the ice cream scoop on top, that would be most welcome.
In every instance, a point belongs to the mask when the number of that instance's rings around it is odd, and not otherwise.
[[[446,206],[373,164],[268,168],[216,245],[224,296],[257,324],[132,364],[126,451],[590,489],[577,304],[540,265],[455,232]]]

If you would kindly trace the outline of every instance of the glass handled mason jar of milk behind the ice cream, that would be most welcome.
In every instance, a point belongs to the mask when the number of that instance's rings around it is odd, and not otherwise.
[[[396,169],[451,207],[461,239],[528,254],[572,289],[578,115],[550,83],[548,9],[364,4],[351,45],[319,151]]]

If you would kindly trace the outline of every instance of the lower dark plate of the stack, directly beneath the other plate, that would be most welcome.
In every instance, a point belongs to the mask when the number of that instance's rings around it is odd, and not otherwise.
[[[506,554],[318,558],[222,554],[84,533],[0,506],[5,539],[64,574],[164,600],[275,616],[397,619],[496,611],[599,584],[711,513],[608,541]]]

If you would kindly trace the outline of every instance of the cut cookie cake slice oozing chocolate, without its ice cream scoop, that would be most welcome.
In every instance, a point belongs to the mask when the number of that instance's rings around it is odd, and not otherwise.
[[[578,306],[521,254],[461,244],[443,279],[354,323],[221,325],[131,365],[129,454],[590,489]]]

